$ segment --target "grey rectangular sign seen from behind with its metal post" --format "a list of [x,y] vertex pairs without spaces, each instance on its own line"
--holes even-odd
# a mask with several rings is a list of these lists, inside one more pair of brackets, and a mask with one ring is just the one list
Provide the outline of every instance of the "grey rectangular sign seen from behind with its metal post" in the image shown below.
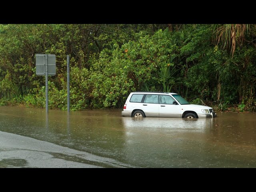
[[45,75],[45,109],[48,114],[48,75],[56,75],[56,56],[36,54],[36,74]]

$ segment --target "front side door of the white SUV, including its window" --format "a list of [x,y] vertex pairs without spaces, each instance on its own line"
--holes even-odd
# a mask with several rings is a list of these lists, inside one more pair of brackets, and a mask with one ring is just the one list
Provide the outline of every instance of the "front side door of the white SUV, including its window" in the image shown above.
[[159,117],[181,117],[181,106],[170,95],[159,95]]

